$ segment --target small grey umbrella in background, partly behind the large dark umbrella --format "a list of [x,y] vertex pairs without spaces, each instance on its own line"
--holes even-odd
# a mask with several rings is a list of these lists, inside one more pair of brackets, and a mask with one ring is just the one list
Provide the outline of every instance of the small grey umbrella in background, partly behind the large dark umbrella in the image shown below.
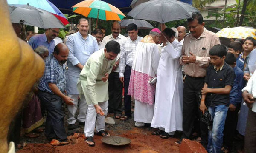
[[137,25],[138,29],[152,29],[154,28],[148,21],[145,20],[137,20],[137,19],[125,19],[122,21],[119,21],[121,24],[121,28],[127,28],[127,26],[131,23],[134,23]]

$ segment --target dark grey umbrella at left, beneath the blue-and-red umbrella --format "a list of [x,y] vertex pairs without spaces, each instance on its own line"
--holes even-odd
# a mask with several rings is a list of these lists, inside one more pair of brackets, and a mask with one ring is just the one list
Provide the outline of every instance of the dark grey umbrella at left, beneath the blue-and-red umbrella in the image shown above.
[[24,20],[25,25],[39,28],[65,28],[65,26],[50,12],[29,5],[8,5],[11,22],[20,23]]

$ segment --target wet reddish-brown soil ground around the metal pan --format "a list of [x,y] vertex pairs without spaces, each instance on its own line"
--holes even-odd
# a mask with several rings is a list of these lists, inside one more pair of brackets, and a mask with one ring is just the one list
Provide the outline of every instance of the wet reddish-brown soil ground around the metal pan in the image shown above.
[[[134,104],[133,104],[134,105]],[[65,127],[68,135],[73,133],[84,133],[84,127],[76,122],[76,129],[69,131],[67,129],[67,106],[64,105],[65,110]],[[113,114],[109,114],[114,118]],[[26,138],[22,132],[20,142],[27,142],[27,146],[23,149],[17,150],[17,153],[84,153],[84,152],[97,152],[97,153],[177,153],[179,152],[179,144],[175,144],[176,138],[162,139],[159,136],[153,136],[151,133],[154,128],[150,125],[147,127],[134,127],[133,119],[127,121],[120,121],[115,119],[116,124],[105,125],[105,130],[108,131],[111,136],[122,136],[131,139],[131,143],[125,146],[111,146],[102,143],[101,136],[94,136],[96,143],[95,147],[89,147],[84,139],[77,139],[76,143],[70,143],[64,146],[53,147],[49,144],[49,141],[41,133],[37,138]]]

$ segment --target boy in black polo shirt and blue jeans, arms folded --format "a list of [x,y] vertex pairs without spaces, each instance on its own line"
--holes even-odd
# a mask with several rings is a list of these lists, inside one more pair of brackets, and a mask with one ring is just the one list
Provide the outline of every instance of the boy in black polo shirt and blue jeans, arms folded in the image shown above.
[[210,51],[210,65],[207,68],[200,110],[204,114],[208,105],[209,113],[213,118],[212,126],[208,126],[209,153],[220,153],[223,141],[223,130],[227,110],[229,108],[229,93],[234,83],[235,72],[224,60],[226,59],[227,47],[215,45]]

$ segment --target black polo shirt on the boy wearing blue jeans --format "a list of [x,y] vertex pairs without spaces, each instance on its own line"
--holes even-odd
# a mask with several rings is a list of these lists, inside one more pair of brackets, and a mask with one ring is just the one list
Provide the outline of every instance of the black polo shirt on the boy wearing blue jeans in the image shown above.
[[[208,88],[225,88],[226,85],[233,87],[235,78],[236,74],[233,68],[225,62],[218,71],[215,70],[214,65],[208,66],[205,83],[207,83]],[[229,94],[208,93],[205,100],[208,106],[228,106]]]

